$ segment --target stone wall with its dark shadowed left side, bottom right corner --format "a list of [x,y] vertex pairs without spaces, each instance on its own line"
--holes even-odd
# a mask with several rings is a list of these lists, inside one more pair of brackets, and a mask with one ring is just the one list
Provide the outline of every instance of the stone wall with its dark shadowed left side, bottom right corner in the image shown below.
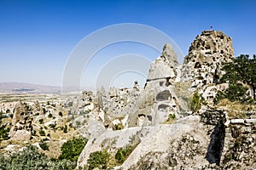
[[209,163],[223,169],[256,167],[256,118],[230,119],[224,110],[207,110],[201,113],[201,122],[215,125],[207,150]]

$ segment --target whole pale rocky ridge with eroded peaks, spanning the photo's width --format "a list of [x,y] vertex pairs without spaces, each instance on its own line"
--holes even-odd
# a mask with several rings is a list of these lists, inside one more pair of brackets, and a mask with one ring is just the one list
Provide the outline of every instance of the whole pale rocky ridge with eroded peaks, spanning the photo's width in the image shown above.
[[[90,154],[98,150],[108,151],[108,167],[113,169],[256,167],[255,107],[248,106],[241,118],[230,106],[212,103],[217,91],[228,87],[218,81],[224,74],[222,65],[233,58],[230,37],[221,31],[202,31],[183,65],[166,44],[150,66],[143,89],[135,82],[134,88],[101,88],[65,99],[43,96],[26,103],[1,96],[5,101],[0,105],[1,127],[11,127],[10,139],[1,143],[3,150],[32,143],[43,151],[39,143],[44,140],[49,145],[44,153],[56,158],[67,139],[82,135],[89,141],[78,167],[88,167]],[[195,94],[204,102],[193,112]],[[131,155],[117,162],[115,154],[127,146]]]

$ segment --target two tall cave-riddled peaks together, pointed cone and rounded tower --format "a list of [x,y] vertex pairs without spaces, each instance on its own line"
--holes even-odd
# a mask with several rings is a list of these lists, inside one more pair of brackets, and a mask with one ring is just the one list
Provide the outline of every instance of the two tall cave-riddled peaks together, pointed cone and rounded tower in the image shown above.
[[218,90],[227,88],[217,83],[224,74],[221,67],[232,59],[232,40],[221,31],[202,31],[195,37],[183,65],[178,64],[172,45],[166,44],[150,65],[143,92],[131,110],[129,126],[162,123],[170,114],[185,116],[195,91],[212,100]]

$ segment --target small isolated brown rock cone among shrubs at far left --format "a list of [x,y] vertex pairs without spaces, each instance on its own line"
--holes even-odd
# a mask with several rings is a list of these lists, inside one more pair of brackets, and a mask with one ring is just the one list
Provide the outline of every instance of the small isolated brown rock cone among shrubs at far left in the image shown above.
[[15,105],[15,113],[9,136],[15,140],[29,140],[32,136],[32,117],[29,115],[28,106],[18,102]]

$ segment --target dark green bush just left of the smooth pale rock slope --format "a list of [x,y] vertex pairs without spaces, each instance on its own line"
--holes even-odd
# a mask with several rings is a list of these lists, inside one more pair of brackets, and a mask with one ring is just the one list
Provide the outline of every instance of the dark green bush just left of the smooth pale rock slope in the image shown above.
[[71,161],[77,161],[79,155],[84,150],[84,146],[87,143],[88,139],[79,137],[72,140],[68,140],[65,144],[61,146],[61,156],[62,159],[67,159]]

